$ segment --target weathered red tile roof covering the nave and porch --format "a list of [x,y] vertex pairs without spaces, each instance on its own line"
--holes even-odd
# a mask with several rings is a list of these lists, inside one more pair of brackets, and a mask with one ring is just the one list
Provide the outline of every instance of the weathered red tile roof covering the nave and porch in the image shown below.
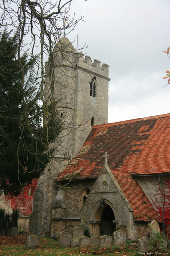
[[108,167],[131,204],[135,218],[159,220],[132,175],[170,173],[169,151],[170,114],[96,125],[56,181],[97,178],[107,152]]

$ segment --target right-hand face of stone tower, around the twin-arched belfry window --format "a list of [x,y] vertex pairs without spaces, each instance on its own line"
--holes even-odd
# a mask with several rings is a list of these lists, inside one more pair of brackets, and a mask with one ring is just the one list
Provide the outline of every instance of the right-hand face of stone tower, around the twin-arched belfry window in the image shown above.
[[[76,68],[75,119],[77,124],[83,124],[83,130],[75,132],[74,152],[81,146],[91,128],[91,118],[94,125],[107,123],[108,117],[108,65],[100,66],[100,61],[89,56],[76,53],[78,57]],[[90,82],[96,77],[96,97],[90,96]],[[80,127],[81,128],[81,127]],[[76,142],[76,143],[75,143]]]

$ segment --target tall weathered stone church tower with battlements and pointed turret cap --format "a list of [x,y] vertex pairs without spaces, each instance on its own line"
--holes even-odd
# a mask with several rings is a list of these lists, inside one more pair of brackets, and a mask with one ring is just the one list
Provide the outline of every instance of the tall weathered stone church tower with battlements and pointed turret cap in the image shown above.
[[[92,125],[107,123],[108,65],[76,52],[70,41],[61,38],[54,49],[54,62],[46,63],[45,97],[48,97],[49,68],[54,70],[54,94],[59,114],[65,122],[51,176],[62,172],[89,134]],[[40,177],[34,194],[29,231],[51,234],[51,212],[58,192],[48,170]]]

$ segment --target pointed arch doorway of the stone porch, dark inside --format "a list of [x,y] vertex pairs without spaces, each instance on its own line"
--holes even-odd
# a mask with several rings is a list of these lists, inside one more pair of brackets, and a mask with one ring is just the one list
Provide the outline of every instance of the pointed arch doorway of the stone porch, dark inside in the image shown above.
[[109,203],[107,204],[106,201],[104,207],[101,207],[100,203],[98,203],[91,215],[91,234],[97,236],[111,236],[116,229],[116,224],[113,223],[114,220],[115,214],[113,207],[111,207]]

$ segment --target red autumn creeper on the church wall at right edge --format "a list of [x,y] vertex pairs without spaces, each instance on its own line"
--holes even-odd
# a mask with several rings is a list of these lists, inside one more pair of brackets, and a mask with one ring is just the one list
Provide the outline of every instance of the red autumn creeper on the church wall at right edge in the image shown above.
[[[161,199],[161,187],[159,184],[159,193],[154,196],[155,202],[152,200],[154,206],[158,210],[158,214],[162,218],[162,200]],[[166,234],[170,239],[170,179],[166,178],[163,185],[163,215],[166,224]]]

